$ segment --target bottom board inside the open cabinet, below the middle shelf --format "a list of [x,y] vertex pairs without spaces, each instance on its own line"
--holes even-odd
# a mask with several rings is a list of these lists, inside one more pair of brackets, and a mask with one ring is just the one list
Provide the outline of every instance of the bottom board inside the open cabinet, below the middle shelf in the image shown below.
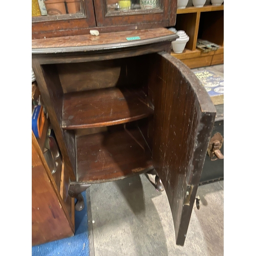
[[77,182],[113,181],[153,168],[151,152],[140,130],[133,128],[129,134],[115,127],[76,137]]

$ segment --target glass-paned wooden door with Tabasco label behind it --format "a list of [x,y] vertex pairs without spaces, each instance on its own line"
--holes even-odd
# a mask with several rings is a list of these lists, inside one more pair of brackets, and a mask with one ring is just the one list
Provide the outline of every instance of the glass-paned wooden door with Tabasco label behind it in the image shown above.
[[175,1],[94,0],[97,26],[160,23],[166,27],[172,2]]

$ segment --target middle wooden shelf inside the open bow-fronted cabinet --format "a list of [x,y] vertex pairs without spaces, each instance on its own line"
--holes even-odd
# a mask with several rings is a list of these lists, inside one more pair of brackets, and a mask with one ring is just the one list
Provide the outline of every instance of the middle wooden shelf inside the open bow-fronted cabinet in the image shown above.
[[139,120],[153,114],[141,90],[104,88],[67,93],[63,99],[64,130],[102,127]]

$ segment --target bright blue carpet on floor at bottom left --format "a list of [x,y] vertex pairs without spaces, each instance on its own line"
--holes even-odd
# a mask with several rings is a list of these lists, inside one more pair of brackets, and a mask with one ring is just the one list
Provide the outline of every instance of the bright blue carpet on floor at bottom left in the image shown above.
[[73,237],[32,246],[32,256],[89,256],[89,231],[86,191],[82,193],[84,208],[75,212]]

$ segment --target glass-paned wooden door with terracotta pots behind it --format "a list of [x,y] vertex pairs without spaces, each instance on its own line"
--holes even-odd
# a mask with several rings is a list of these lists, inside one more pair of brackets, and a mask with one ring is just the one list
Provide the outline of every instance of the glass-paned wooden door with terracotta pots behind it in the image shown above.
[[39,38],[37,33],[50,36],[58,31],[95,26],[93,0],[32,0],[34,38]]

